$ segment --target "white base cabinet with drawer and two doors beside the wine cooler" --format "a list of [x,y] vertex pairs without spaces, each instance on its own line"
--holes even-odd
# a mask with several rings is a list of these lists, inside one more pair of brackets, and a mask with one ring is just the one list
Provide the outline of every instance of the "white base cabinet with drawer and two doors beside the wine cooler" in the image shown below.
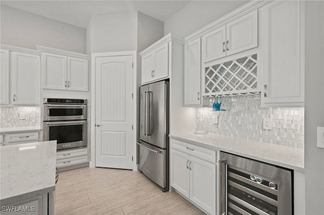
[[216,151],[171,139],[171,186],[209,214],[216,214],[215,162]]

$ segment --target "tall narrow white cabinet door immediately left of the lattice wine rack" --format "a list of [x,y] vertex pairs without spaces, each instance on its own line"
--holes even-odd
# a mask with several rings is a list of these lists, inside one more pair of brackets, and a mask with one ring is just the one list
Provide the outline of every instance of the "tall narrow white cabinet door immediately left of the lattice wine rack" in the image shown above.
[[184,48],[184,105],[201,104],[200,38]]

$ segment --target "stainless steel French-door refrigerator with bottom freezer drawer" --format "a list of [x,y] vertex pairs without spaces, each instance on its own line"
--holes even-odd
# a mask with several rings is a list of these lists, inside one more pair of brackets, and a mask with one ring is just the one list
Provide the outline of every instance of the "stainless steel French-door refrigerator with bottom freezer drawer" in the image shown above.
[[169,190],[169,82],[140,87],[139,168]]

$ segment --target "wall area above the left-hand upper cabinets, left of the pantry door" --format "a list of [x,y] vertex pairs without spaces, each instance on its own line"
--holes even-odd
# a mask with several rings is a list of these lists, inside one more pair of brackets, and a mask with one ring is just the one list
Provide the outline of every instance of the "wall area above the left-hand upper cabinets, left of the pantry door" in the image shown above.
[[86,29],[1,5],[1,43],[86,53]]

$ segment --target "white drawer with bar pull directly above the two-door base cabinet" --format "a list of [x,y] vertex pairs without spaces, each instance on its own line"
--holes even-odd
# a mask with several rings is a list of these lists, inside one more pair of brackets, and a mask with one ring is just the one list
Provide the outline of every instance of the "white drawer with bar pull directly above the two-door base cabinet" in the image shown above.
[[171,147],[192,156],[216,163],[216,151],[171,139]]

